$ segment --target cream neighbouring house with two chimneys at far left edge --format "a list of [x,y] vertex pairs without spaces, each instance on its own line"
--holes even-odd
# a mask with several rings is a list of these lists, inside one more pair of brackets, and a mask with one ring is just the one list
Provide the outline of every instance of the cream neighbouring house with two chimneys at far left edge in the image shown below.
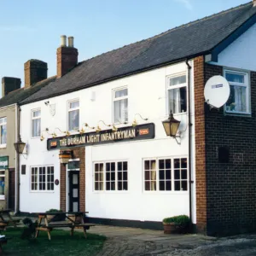
[[15,170],[20,155],[16,154],[14,146],[19,139],[19,102],[55,80],[55,77],[47,79],[48,68],[44,61],[26,61],[24,68],[25,86],[20,88],[20,79],[3,77],[0,99],[0,207],[14,211],[19,209],[15,200],[19,196],[19,177]]

